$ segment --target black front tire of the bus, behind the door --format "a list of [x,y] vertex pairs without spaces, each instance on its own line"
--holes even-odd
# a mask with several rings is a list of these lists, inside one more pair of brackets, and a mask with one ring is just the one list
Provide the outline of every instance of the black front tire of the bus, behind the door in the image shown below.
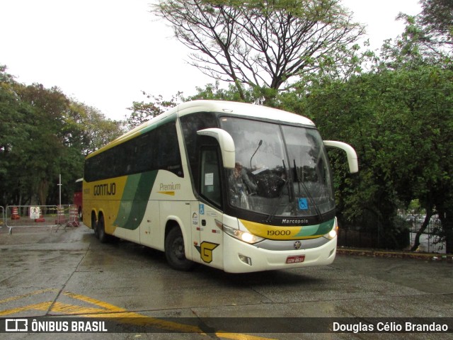
[[165,238],[165,257],[168,264],[178,271],[193,268],[193,261],[185,258],[184,238],[179,227],[172,227]]

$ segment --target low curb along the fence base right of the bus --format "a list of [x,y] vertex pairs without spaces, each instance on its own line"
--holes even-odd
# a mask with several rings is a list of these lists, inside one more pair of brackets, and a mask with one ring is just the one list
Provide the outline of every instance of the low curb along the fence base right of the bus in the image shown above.
[[350,248],[337,248],[337,254],[453,262],[452,254],[417,253],[407,251],[384,251],[374,249],[350,249]]

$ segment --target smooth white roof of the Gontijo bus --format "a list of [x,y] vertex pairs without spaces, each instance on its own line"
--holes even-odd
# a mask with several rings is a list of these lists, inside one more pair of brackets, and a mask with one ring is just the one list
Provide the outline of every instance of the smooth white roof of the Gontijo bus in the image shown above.
[[88,158],[101,150],[109,149],[114,145],[121,144],[126,140],[130,140],[134,135],[139,135],[142,130],[145,130],[152,125],[156,125],[162,120],[171,119],[171,116],[182,117],[183,115],[189,115],[190,113],[196,112],[217,112],[217,113],[226,113],[226,114],[237,114],[243,117],[250,117],[250,118],[260,118],[265,120],[275,120],[276,122],[282,123],[292,123],[292,124],[302,124],[302,125],[312,125],[314,123],[302,115],[297,115],[296,113],[289,113],[287,111],[282,111],[277,108],[269,108],[267,106],[260,106],[256,104],[249,104],[249,103],[239,103],[234,101],[188,101],[185,103],[181,103],[174,108],[166,111],[165,113],[161,113],[160,115],[156,115],[156,117],[151,118],[147,122],[143,123],[142,125],[137,126],[126,132],[124,135],[117,137],[117,139],[110,142],[105,147],[98,149],[97,151],[88,155]]

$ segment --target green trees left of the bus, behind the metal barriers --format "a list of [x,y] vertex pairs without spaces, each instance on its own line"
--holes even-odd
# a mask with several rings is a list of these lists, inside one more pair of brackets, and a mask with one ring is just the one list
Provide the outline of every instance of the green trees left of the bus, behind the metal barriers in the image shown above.
[[122,132],[57,87],[25,86],[0,67],[0,205],[71,202],[84,156]]

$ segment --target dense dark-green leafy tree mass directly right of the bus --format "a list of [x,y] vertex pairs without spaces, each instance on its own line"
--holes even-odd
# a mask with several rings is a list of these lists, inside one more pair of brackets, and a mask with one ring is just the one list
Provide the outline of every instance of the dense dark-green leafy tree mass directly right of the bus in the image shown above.
[[402,68],[320,82],[305,99],[323,137],[350,143],[360,159],[359,174],[348,176],[343,156],[331,154],[341,222],[353,225],[371,212],[386,240],[379,246],[396,246],[398,203],[418,198],[426,223],[440,215],[453,252],[452,84],[443,67]]

